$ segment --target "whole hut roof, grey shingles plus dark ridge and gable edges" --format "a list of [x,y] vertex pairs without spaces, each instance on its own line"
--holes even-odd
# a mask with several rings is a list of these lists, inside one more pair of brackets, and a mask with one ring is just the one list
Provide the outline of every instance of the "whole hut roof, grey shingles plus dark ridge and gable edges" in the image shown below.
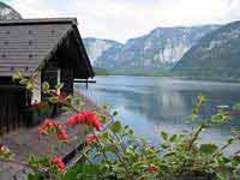
[[[15,71],[31,75],[53,57],[61,44],[74,35],[80,56],[75,78],[93,77],[94,73],[77,29],[76,18],[21,19],[0,21],[0,76],[11,76]],[[77,59],[79,58],[79,59]],[[79,63],[81,62],[81,63]],[[84,67],[84,68],[83,68]],[[75,72],[78,67],[74,67]]]

